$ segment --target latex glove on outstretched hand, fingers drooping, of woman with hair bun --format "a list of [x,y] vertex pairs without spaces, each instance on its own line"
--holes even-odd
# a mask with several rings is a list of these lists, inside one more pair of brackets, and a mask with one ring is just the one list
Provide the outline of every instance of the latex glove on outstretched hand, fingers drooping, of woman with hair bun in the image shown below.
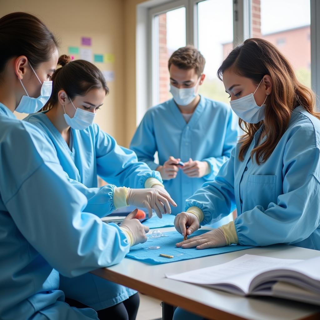
[[127,191],[127,203],[135,207],[143,207],[148,209],[149,218],[152,217],[152,209],[161,219],[165,213],[171,213],[169,202],[176,207],[177,204],[171,197],[156,188],[149,189],[130,189]]

